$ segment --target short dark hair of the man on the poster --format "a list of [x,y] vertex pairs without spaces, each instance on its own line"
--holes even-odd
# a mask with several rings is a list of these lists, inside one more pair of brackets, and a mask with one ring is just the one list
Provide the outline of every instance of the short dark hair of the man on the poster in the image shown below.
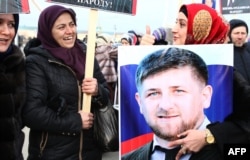
[[196,53],[186,50],[171,47],[162,49],[147,55],[137,67],[136,70],[136,86],[137,89],[142,82],[149,76],[156,73],[171,69],[191,66],[194,75],[204,82],[208,83],[207,65],[203,59]]

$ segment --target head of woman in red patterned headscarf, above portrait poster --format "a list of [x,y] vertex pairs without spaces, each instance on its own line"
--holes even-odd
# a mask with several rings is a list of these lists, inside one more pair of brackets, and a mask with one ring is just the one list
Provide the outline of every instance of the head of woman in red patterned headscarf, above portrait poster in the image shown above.
[[228,30],[229,24],[211,7],[204,4],[183,5],[172,28],[173,44],[226,43]]

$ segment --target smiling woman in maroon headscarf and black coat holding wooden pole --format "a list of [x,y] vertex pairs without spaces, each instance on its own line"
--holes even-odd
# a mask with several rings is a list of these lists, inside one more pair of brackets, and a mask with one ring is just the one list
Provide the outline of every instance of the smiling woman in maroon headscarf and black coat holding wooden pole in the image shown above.
[[28,160],[101,160],[94,116],[82,111],[82,93],[92,96],[94,109],[107,105],[109,92],[96,60],[94,78],[84,78],[86,46],[77,39],[75,16],[59,5],[44,9],[37,39],[25,46]]

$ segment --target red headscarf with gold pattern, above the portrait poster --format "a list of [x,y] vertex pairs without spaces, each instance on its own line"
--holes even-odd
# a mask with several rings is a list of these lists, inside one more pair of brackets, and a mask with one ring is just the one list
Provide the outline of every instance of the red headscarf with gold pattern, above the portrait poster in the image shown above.
[[188,19],[185,44],[222,44],[225,42],[229,24],[213,8],[193,3],[182,5],[180,12],[186,10]]

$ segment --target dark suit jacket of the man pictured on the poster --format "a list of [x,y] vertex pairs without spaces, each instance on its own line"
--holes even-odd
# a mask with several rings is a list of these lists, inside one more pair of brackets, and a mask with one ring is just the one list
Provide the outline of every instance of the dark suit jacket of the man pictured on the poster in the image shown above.
[[[150,160],[152,154],[152,144],[150,142],[143,147],[132,151],[122,157],[122,160]],[[218,147],[213,145],[207,145],[202,148],[198,153],[193,153],[190,160],[221,160],[222,154]]]

